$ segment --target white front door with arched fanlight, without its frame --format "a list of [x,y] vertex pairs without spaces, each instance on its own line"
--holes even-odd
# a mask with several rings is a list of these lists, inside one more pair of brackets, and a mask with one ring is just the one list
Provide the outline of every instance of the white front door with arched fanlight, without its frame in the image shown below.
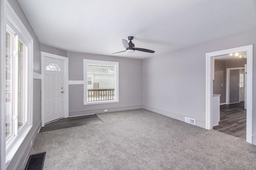
[[44,57],[44,123],[64,117],[63,60]]

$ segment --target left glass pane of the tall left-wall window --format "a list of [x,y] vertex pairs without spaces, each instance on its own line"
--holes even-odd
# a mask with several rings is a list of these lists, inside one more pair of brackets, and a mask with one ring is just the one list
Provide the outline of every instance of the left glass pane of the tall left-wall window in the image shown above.
[[12,113],[13,113],[13,74],[14,74],[14,61],[12,51],[14,47],[14,37],[6,31],[6,141],[14,134]]

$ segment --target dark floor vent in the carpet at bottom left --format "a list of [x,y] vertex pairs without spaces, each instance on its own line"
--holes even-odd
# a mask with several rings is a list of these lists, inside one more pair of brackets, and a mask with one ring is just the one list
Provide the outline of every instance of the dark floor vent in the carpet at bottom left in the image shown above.
[[42,170],[46,152],[32,154],[28,158],[25,170]]

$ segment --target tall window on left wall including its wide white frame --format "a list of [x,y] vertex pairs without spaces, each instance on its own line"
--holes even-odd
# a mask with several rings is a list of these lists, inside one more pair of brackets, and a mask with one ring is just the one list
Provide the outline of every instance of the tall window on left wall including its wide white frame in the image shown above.
[[6,2],[4,72],[4,126],[6,167],[32,127],[33,38]]

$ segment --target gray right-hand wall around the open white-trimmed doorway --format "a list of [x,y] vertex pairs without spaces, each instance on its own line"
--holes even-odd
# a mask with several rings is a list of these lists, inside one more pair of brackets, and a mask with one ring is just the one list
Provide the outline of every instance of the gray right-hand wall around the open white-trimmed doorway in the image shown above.
[[[144,108],[205,127],[206,53],[254,45],[256,30],[208,41],[143,60]],[[256,60],[253,61],[254,70]],[[256,144],[256,74],[253,74],[253,143]]]

